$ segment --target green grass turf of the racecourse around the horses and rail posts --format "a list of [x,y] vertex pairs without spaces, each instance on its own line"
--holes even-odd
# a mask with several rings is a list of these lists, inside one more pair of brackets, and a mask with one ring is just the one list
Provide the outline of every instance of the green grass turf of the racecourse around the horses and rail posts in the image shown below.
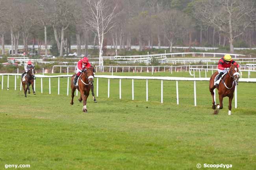
[[[172,76],[190,77],[186,72]],[[110,81],[108,99],[107,79],[99,79],[98,103],[90,96],[88,113],[83,113],[78,97],[73,106],[69,104],[67,78],[61,79],[61,95],[57,95],[57,80],[51,79],[49,95],[48,79],[43,79],[43,94],[37,79],[37,95],[25,98],[19,86],[14,90],[14,77],[6,90],[5,77],[5,88],[0,90],[0,169],[7,164],[29,164],[30,168],[23,169],[195,170],[198,163],[256,169],[256,84],[239,83],[238,108],[234,109],[233,101],[228,116],[226,98],[224,109],[213,115],[208,82],[197,82],[195,107],[193,82],[179,82],[177,105],[176,82],[163,82],[161,104],[158,80],[148,81],[146,102],[145,80],[134,80],[132,101],[131,80],[122,80],[120,100],[119,80]]]

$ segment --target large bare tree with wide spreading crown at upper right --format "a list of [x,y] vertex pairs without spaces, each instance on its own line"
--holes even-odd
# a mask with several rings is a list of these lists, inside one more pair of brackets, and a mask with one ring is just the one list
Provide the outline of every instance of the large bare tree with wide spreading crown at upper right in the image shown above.
[[256,20],[254,0],[203,0],[195,2],[195,17],[222,31],[228,37],[230,52],[234,39]]

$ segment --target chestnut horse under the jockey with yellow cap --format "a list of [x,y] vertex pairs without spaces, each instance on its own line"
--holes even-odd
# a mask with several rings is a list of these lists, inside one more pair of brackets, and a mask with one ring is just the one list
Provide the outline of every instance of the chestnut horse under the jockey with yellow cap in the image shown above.
[[239,70],[236,66],[231,66],[230,70],[221,78],[219,85],[214,86],[214,78],[218,74],[218,71],[211,75],[209,90],[211,92],[212,97],[212,109],[216,109],[215,101],[214,101],[214,92],[213,90],[217,88],[219,90],[219,102],[220,104],[217,105],[218,109],[223,108],[223,97],[228,97],[228,115],[231,115],[231,108],[232,108],[232,99],[234,97],[234,90],[239,80]]

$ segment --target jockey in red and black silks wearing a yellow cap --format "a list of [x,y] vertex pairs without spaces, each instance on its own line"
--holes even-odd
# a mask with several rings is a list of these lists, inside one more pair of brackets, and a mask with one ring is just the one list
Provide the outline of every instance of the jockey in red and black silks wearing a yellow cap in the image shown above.
[[231,64],[233,64],[236,67],[239,67],[238,63],[235,62],[234,60],[232,60],[231,56],[229,54],[226,54],[223,58],[221,58],[218,62],[218,72],[219,75],[216,79],[216,81],[214,82],[214,85],[218,85],[219,82],[221,81],[221,76],[228,72]]

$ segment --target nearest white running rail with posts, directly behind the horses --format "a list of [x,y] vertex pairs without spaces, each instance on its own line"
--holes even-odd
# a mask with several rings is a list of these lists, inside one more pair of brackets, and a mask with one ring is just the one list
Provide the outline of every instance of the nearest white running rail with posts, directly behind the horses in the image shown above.
[[[17,90],[17,76],[20,74],[0,74],[2,75],[2,90],[4,89],[4,76],[7,76],[7,90],[9,90],[9,76],[15,77],[15,90]],[[59,95],[59,79],[67,78],[67,95],[69,95],[69,77],[72,75],[54,75],[54,76],[46,76],[46,75],[35,75],[37,78],[41,78],[41,93],[43,93],[43,78],[49,79],[49,94],[51,94],[51,78],[58,78],[58,95]],[[179,93],[178,93],[178,81],[194,81],[194,104],[197,106],[197,95],[196,95],[196,81],[209,81],[210,78],[191,78],[191,77],[143,77],[143,76],[111,76],[111,75],[96,75],[96,96],[98,97],[98,79],[108,79],[108,98],[110,97],[110,79],[119,79],[119,99],[122,98],[122,79],[132,80],[132,100],[134,100],[134,80],[146,80],[146,101],[148,101],[148,80],[161,80],[161,103],[163,103],[163,80],[176,81],[176,102],[179,104]],[[239,79],[239,82],[256,82],[256,79]],[[35,88],[35,83],[34,83]],[[127,90],[127,89],[126,89]],[[20,81],[20,91],[21,91],[21,81]],[[76,95],[78,95],[78,91],[76,91]],[[216,98],[216,97],[215,97]],[[216,101],[216,100],[215,100]],[[235,89],[235,108],[237,108],[237,86]]]

